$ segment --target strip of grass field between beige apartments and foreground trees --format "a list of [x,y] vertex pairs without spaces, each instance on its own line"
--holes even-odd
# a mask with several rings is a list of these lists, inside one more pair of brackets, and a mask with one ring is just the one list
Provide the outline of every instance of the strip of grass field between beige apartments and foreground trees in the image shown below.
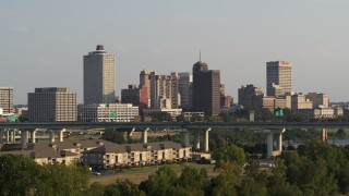
[[185,166],[190,166],[196,169],[205,168],[207,171],[208,177],[214,177],[218,173],[214,171],[214,164],[196,164],[192,162],[181,163],[181,164],[166,164],[166,166],[152,166],[152,167],[140,167],[140,168],[131,168],[131,169],[123,169],[120,172],[113,172],[113,171],[106,171],[101,173],[101,175],[92,175],[91,183],[98,182],[100,184],[107,185],[110,183],[113,183],[117,181],[117,179],[129,179],[130,181],[139,184],[142,181],[145,181],[148,179],[148,175],[152,173],[155,173],[158,168],[161,167],[170,167],[173,169],[173,171],[180,175],[182,172],[182,169]]

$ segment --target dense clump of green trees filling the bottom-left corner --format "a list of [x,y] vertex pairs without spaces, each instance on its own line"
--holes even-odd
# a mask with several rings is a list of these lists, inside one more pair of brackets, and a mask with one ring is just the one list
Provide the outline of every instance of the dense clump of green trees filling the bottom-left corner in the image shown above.
[[84,167],[39,166],[22,155],[0,156],[0,195],[83,195],[88,180]]

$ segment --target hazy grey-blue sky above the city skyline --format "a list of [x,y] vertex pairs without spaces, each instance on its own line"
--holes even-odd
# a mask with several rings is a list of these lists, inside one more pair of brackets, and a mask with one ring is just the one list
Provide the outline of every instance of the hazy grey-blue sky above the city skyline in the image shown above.
[[226,94],[266,84],[266,62],[292,62],[296,93],[349,101],[349,0],[0,1],[0,86],[14,103],[36,87],[70,87],[83,100],[83,56],[116,54],[116,88],[144,70],[220,70]]

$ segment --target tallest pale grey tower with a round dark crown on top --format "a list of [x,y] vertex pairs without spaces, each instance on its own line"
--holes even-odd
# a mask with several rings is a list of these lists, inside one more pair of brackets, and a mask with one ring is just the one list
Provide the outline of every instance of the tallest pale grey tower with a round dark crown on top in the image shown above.
[[98,45],[84,56],[84,103],[116,101],[116,58]]

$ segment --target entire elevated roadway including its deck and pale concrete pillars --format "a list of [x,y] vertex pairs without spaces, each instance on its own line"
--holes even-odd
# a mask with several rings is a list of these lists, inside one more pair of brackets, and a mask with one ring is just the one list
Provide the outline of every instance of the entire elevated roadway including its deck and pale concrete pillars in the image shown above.
[[[201,149],[201,135],[204,137],[203,150],[208,151],[208,132],[210,130],[263,130],[267,134],[267,157],[274,156],[274,135],[277,136],[277,150],[282,150],[282,133],[285,130],[291,131],[294,128],[318,128],[322,130],[322,138],[326,140],[327,128],[349,128],[349,122],[246,122],[246,123],[209,123],[209,122],[25,122],[25,123],[0,123],[0,144],[3,137],[7,142],[15,142],[15,133],[12,135],[9,130],[21,130],[22,149],[26,148],[28,142],[28,133],[31,134],[32,143],[36,139],[36,130],[47,128],[50,132],[50,142],[55,142],[55,133],[59,134],[59,142],[63,140],[63,132],[65,130],[88,130],[88,128],[116,128],[122,132],[128,132],[128,140],[134,131],[142,131],[142,142],[147,143],[147,132],[155,128],[171,128],[180,130],[182,134],[183,145],[190,145],[189,134],[195,135],[194,147]],[[3,136],[5,134],[5,136]]]

